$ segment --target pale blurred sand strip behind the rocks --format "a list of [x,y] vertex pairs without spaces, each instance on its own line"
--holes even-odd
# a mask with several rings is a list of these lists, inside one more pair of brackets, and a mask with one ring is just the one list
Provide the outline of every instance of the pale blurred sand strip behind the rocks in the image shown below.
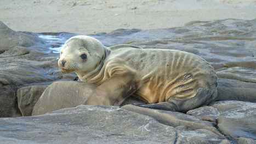
[[255,0],[1,0],[0,21],[15,31],[91,34],[169,28],[186,22],[256,18]]

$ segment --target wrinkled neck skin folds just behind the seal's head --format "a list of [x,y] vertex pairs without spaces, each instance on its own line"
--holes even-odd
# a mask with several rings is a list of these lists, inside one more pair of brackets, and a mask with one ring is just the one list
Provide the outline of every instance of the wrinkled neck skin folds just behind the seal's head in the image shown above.
[[99,74],[101,68],[104,65],[104,61],[106,59],[106,57],[110,54],[110,50],[107,49],[106,47],[104,47],[104,55],[101,58],[101,61],[99,62],[98,65],[96,65],[96,67],[94,68],[94,70],[89,71],[89,72],[76,72],[77,76],[79,79],[81,79],[84,82],[87,82],[88,79],[93,78],[94,76],[96,76],[97,74]]

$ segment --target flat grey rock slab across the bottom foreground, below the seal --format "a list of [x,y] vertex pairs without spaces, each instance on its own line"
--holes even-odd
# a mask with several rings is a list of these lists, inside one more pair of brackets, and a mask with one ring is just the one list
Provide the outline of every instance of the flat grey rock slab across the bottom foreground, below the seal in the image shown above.
[[2,143],[255,143],[251,102],[219,101],[185,113],[85,106],[0,118]]

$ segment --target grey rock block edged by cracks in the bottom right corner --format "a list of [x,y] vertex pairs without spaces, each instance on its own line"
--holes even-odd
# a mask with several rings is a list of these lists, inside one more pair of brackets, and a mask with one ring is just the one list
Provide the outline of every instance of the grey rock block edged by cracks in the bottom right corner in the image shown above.
[[252,102],[219,101],[211,104],[219,112],[218,128],[234,139],[256,139],[256,105]]

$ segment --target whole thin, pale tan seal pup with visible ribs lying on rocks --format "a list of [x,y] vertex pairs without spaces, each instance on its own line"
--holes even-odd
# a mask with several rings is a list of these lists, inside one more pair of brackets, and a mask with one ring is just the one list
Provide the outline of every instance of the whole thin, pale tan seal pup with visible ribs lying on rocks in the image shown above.
[[120,106],[130,95],[158,110],[186,112],[217,96],[217,75],[201,57],[180,50],[105,47],[89,36],[68,39],[60,51],[63,73],[98,84],[84,105]]

